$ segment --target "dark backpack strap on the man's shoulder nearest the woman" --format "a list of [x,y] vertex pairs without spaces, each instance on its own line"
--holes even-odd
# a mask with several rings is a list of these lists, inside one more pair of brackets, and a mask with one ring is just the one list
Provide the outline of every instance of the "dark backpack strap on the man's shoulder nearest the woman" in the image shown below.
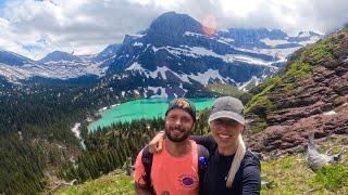
[[201,194],[203,192],[203,180],[208,169],[209,152],[204,146],[197,144],[197,153],[198,153],[199,194]]

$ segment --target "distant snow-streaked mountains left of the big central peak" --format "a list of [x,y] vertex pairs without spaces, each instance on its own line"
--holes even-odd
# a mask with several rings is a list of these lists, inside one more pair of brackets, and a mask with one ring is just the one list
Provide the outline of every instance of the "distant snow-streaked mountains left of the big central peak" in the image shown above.
[[53,51],[39,61],[0,50],[0,75],[15,83],[92,83],[104,75],[120,47],[110,44],[97,55]]

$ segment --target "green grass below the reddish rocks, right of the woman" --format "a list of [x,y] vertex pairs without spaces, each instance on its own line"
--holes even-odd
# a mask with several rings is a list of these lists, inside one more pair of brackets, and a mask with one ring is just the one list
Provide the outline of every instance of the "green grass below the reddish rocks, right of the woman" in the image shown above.
[[347,194],[348,167],[336,165],[310,170],[306,156],[262,161],[261,194]]

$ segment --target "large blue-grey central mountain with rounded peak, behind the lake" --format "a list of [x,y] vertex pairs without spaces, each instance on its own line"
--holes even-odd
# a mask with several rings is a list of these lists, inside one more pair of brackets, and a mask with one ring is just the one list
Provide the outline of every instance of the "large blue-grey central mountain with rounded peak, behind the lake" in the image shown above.
[[[160,15],[141,34],[125,36],[102,82],[123,83],[117,84],[120,90],[136,90],[142,96],[187,95],[192,89],[204,91],[210,83],[243,88],[276,73],[302,47],[300,41],[290,42],[282,30],[231,29],[206,35],[204,28],[186,14]],[[311,41],[320,38],[311,36]]]

